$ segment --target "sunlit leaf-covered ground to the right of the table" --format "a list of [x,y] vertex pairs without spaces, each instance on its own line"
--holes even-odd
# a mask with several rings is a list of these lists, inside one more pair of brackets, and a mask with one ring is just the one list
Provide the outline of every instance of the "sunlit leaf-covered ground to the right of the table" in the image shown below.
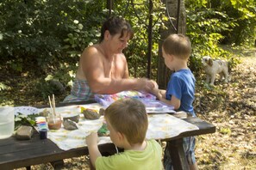
[[[255,52],[255,51],[254,51]],[[216,132],[197,137],[200,169],[256,169],[256,52],[240,56],[228,85],[215,95],[198,94],[198,117],[215,124]],[[204,93],[203,93],[204,94]]]

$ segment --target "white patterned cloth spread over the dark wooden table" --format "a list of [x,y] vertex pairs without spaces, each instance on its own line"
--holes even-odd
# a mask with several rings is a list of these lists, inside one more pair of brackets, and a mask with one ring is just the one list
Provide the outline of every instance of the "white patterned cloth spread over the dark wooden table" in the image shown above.
[[[88,136],[92,131],[97,132],[103,124],[103,116],[97,120],[88,120],[84,118],[81,113],[81,108],[91,108],[99,110],[102,106],[94,103],[87,105],[78,106],[61,106],[56,107],[56,112],[60,115],[80,113],[80,119],[78,122],[78,130],[67,131],[64,129],[63,124],[59,130],[51,130],[47,132],[48,138],[56,143],[59,149],[68,150],[76,149],[79,147],[86,146],[85,137]],[[34,107],[29,109],[28,107],[19,108],[18,110],[24,114],[42,112],[46,108],[35,110]],[[50,108],[47,108],[50,109]],[[198,130],[196,125],[185,122],[180,118],[175,118],[172,115],[161,112],[160,114],[148,114],[148,130],[147,139],[165,139],[176,137],[178,134],[184,131]],[[98,144],[111,143],[109,137],[99,137]]]

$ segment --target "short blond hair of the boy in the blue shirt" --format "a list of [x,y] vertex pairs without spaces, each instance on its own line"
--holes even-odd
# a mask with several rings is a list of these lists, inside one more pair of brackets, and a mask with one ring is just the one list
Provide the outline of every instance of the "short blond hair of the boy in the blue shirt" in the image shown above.
[[170,34],[164,40],[162,47],[166,54],[173,55],[180,59],[190,58],[190,39],[183,34]]

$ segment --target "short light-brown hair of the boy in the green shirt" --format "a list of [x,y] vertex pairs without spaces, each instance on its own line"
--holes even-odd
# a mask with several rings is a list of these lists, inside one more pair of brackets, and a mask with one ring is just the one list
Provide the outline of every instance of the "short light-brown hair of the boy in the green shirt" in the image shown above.
[[116,100],[105,110],[104,117],[115,131],[125,135],[131,145],[145,140],[148,119],[146,107],[140,100]]

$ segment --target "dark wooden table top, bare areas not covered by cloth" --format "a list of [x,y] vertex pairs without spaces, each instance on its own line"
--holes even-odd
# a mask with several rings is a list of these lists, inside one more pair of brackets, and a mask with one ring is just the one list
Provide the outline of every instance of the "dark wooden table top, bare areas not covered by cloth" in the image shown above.
[[[199,130],[184,132],[179,134],[177,137],[165,139],[164,141],[215,132],[215,125],[209,124],[200,118],[190,117],[184,118],[184,120],[197,125]],[[99,149],[101,151],[116,150],[112,143],[99,145]],[[88,149],[85,146],[66,151],[59,149],[59,147],[51,140],[41,140],[38,132],[35,130],[34,135],[30,140],[16,140],[15,137],[0,139],[0,169],[29,167],[31,165],[59,161],[88,154]]]

